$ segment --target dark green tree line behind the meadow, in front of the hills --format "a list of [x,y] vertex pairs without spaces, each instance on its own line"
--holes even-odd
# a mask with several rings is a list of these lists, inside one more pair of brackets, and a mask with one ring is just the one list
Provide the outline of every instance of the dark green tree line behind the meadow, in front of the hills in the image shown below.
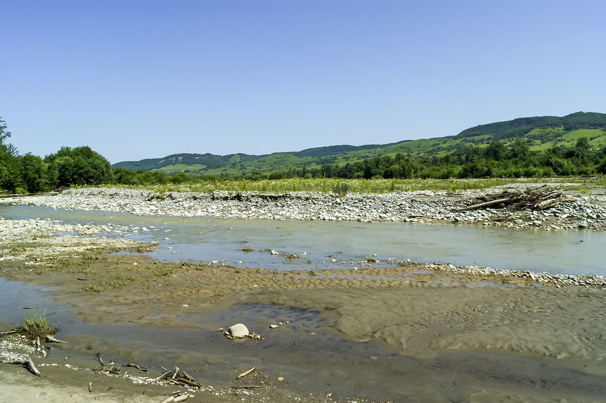
[[104,157],[88,146],[62,147],[44,159],[32,154],[19,155],[15,146],[6,142],[10,136],[4,120],[0,120],[0,188],[3,192],[36,193],[71,185],[151,185],[293,177],[448,179],[606,174],[606,147],[591,148],[587,137],[579,137],[573,146],[554,146],[542,151],[531,151],[524,139],[516,139],[509,145],[494,140],[488,145],[458,148],[441,157],[413,159],[404,154],[396,154],[345,164],[324,163],[316,167],[303,166],[274,172],[212,177],[188,176],[184,172],[168,175],[161,171],[112,168]]

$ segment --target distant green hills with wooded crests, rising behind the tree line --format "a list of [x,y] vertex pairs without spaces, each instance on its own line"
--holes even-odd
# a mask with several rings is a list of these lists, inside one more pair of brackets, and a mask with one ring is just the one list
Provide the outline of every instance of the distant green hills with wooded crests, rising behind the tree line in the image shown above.
[[506,145],[514,139],[525,139],[531,149],[570,146],[579,137],[590,139],[591,146],[606,146],[606,114],[577,112],[567,116],[520,117],[465,129],[456,136],[433,139],[402,140],[389,144],[361,146],[333,145],[302,151],[250,154],[172,154],[164,158],[124,161],[114,168],[138,171],[184,171],[190,174],[242,175],[271,172],[288,168],[314,167],[327,163],[348,163],[398,153],[413,158],[445,156],[471,145],[487,145],[499,140]]

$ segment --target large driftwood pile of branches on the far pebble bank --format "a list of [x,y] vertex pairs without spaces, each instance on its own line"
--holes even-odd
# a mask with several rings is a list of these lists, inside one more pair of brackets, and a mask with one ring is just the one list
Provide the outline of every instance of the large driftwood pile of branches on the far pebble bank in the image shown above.
[[579,186],[563,189],[559,186],[551,188],[543,185],[534,189],[505,189],[500,193],[477,197],[473,200],[472,205],[458,208],[455,211],[469,211],[486,207],[512,210],[544,210],[559,205],[564,200],[564,192]]

